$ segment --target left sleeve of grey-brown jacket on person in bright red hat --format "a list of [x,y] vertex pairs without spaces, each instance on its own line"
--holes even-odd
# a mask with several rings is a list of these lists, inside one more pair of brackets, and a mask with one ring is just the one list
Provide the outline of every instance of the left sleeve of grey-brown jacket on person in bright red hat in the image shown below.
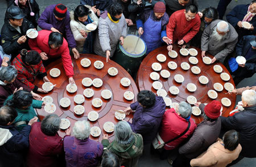
[[203,145],[203,134],[199,134],[196,131],[187,143],[179,148],[180,154],[191,153],[198,150]]

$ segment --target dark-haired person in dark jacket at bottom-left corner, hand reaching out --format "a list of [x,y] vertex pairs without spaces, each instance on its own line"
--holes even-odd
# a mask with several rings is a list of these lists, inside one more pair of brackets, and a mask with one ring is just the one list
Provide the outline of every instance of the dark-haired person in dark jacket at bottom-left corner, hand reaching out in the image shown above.
[[0,108],[0,166],[22,166],[24,154],[29,146],[31,124],[36,122],[37,118],[30,120],[28,125],[18,132],[11,124],[16,116],[14,108],[9,106]]

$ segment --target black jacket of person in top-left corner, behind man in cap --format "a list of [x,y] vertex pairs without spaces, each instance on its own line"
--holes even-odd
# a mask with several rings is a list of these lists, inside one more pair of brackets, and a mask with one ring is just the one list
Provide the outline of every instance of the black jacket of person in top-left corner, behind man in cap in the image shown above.
[[[36,28],[38,26],[38,19],[39,19],[39,6],[38,6],[38,3],[36,3],[35,0],[29,0],[30,1],[30,5],[31,5],[31,9],[32,9],[32,12],[35,13],[34,16],[31,16],[30,15],[30,6],[28,5],[28,1],[26,3],[26,5],[24,7],[22,7],[21,5],[19,5],[19,8],[22,9],[22,11],[24,12],[24,14],[26,14],[26,18],[34,25],[34,27]],[[17,6],[15,2],[13,2],[11,4],[11,6]]]

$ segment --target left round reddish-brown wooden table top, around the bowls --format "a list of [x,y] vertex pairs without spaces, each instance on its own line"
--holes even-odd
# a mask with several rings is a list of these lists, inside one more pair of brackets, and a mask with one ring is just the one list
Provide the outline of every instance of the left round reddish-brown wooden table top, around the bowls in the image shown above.
[[[91,65],[88,68],[84,68],[81,66],[80,61],[83,58],[88,58],[91,61]],[[94,68],[94,61],[100,60],[104,62],[104,68],[102,69],[96,69]],[[114,61],[109,61],[106,63],[106,58],[97,56],[97,55],[88,55],[88,54],[82,54],[80,55],[80,58],[75,60],[72,59],[73,63],[73,69],[75,72],[75,76],[73,76],[76,85],[77,85],[77,91],[75,93],[68,93],[66,90],[66,86],[68,85],[68,77],[65,75],[65,71],[63,68],[63,64],[61,62],[61,59],[58,59],[48,66],[46,66],[47,70],[47,77],[49,78],[50,82],[56,84],[56,86],[53,88],[52,91],[50,91],[47,94],[40,94],[42,96],[50,95],[53,98],[53,103],[56,105],[56,111],[53,112],[53,114],[57,114],[60,118],[67,118],[71,121],[71,130],[72,127],[74,126],[74,123],[77,120],[88,120],[87,114],[90,111],[96,111],[99,114],[98,120],[95,122],[90,122],[90,126],[98,126],[101,128],[101,135],[99,137],[93,137],[90,135],[90,139],[101,141],[102,136],[104,134],[107,134],[107,132],[104,131],[103,129],[103,124],[105,122],[113,122],[114,124],[117,124],[118,120],[115,118],[114,113],[116,110],[124,110],[126,107],[130,106],[130,103],[133,103],[136,101],[136,96],[138,94],[138,89],[137,86],[131,78],[130,74],[126,72],[125,69],[122,68],[122,66],[118,65]],[[108,74],[108,69],[110,67],[115,67],[118,69],[118,74],[117,76],[110,76]],[[61,74],[59,77],[53,78],[49,75],[49,70],[52,68],[58,68],[61,71]],[[96,88],[94,86],[89,86],[85,87],[82,85],[82,79],[85,77],[89,77],[92,80],[94,78],[100,78],[103,81],[103,85],[99,88]],[[124,87],[121,85],[120,80],[123,77],[127,77],[131,80],[131,85],[128,87]],[[43,80],[42,79],[37,79],[35,81],[35,85],[42,87]],[[91,88],[94,90],[94,95],[92,98],[86,98],[85,97],[85,102],[82,103],[81,105],[85,107],[85,112],[82,115],[76,115],[73,112],[73,108],[76,106],[76,103],[74,102],[73,98],[75,97],[76,94],[82,94],[83,91],[86,88]],[[113,95],[110,99],[106,100],[101,97],[101,90],[108,89],[112,91]],[[123,98],[123,93],[125,91],[133,91],[135,98],[131,101],[127,101],[125,98]],[[63,108],[60,106],[59,101],[63,97],[68,97],[71,99],[71,105],[67,108]],[[92,100],[93,98],[101,98],[103,101],[103,105],[99,108],[93,107],[92,106]],[[37,109],[40,120],[42,120],[48,113],[44,111],[44,108],[42,109]],[[125,120],[131,122],[131,119],[133,118],[133,115],[127,115]],[[72,131],[71,131],[72,132]],[[64,136],[65,132],[64,131],[59,131],[60,136]],[[113,141],[114,140],[114,132],[108,133],[109,135],[109,140]]]

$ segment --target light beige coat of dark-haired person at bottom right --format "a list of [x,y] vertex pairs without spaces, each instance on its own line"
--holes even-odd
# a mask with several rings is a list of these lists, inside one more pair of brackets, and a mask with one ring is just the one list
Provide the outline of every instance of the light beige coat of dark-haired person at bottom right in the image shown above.
[[239,144],[234,151],[229,151],[225,149],[220,143],[222,141],[217,141],[210,145],[210,147],[195,159],[190,161],[191,166],[211,166],[211,167],[224,167],[230,164],[233,160],[236,160],[242,150]]

